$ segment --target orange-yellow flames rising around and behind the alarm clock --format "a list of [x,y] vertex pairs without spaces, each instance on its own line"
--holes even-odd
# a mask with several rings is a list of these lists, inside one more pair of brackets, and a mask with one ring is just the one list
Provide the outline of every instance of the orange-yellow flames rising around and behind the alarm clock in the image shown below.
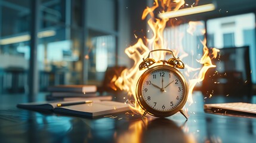
[[[197,3],[198,1],[196,1],[196,4]],[[147,54],[149,54],[149,51],[153,49],[170,49],[168,46],[168,42],[166,42],[164,39],[163,33],[165,30],[166,23],[168,21],[172,24],[172,27],[175,26],[173,23],[176,22],[174,21],[177,21],[177,18],[156,18],[154,15],[154,11],[159,10],[161,11],[161,13],[164,13],[165,11],[177,11],[180,8],[183,8],[184,4],[184,0],[155,0],[153,7],[146,7],[146,9],[143,11],[141,19],[145,20],[147,17],[149,17],[149,19],[147,20],[147,24],[149,25],[151,30],[150,32],[148,31],[147,36],[151,36],[151,38],[146,38],[144,42],[143,39],[139,38],[137,43],[125,49],[125,53],[128,55],[129,58],[131,58],[134,61],[134,65],[131,67],[131,69],[125,69],[124,71],[122,71],[121,76],[119,76],[118,79],[115,80],[115,85],[118,86],[118,88],[127,91],[128,94],[134,96],[135,99],[135,86],[137,84],[138,78],[144,72],[138,70],[138,65],[143,61],[143,58],[146,57]],[[193,4],[193,6],[196,4]],[[201,24],[202,23],[190,21],[187,32],[190,33],[190,35],[193,35],[193,33],[196,31],[196,26]],[[205,30],[202,30],[201,33],[204,34]],[[137,36],[135,37],[138,38]],[[174,52],[175,57],[177,57],[177,55],[180,55],[180,59],[182,60],[189,54],[187,54],[183,50],[183,46],[181,44],[183,34],[178,33],[178,38],[180,38],[178,46],[175,47],[175,49],[171,50]],[[197,62],[202,64],[202,67],[194,68],[190,65],[185,65],[185,71],[183,72],[186,75],[187,80],[189,81],[188,101],[190,101],[190,104],[193,103],[193,88],[195,88],[196,83],[201,82],[204,79],[205,73],[209,68],[215,67],[214,65],[212,65],[210,57],[216,58],[218,52],[218,49],[214,48],[212,49],[212,53],[209,53],[209,50],[206,46],[206,38],[204,38],[203,41],[201,41],[201,43],[203,45],[203,55],[201,59]],[[156,61],[165,59],[165,56],[166,54],[164,51],[152,53],[152,57]],[[191,76],[190,74],[195,73],[195,71],[197,71],[197,73]],[[137,101],[135,101],[134,107],[131,107],[131,109],[135,113],[143,113],[143,110],[140,108]]]

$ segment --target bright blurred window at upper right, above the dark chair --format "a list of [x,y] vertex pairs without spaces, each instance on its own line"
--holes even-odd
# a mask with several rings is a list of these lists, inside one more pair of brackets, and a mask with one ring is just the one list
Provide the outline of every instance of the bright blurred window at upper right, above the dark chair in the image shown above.
[[230,48],[249,46],[252,83],[256,83],[255,14],[214,18],[206,22],[208,46]]

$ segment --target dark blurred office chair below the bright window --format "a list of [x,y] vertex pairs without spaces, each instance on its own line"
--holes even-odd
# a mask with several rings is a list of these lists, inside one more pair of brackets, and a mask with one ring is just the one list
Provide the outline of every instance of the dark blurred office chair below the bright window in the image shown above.
[[220,56],[212,59],[202,82],[202,93],[209,95],[248,96],[252,94],[249,46],[220,49]]

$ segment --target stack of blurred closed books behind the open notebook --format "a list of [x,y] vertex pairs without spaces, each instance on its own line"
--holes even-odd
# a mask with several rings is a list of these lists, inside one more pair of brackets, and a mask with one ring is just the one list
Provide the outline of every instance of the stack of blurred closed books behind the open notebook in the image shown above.
[[100,96],[97,94],[95,85],[57,85],[48,87],[50,95],[47,100],[112,100],[111,96]]

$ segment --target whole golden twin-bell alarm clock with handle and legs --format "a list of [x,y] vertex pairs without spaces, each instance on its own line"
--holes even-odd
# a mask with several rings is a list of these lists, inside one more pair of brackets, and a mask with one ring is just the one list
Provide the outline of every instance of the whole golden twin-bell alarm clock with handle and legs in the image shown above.
[[[169,60],[160,60],[156,66],[151,52],[171,52]],[[140,107],[144,110],[141,117],[146,114],[156,117],[168,117],[180,111],[186,119],[187,114],[182,110],[187,101],[188,86],[183,74],[177,69],[184,69],[184,63],[175,58],[169,49],[155,49],[149,52],[146,59],[139,65],[139,70],[144,70],[138,79],[136,86],[136,98]]]

